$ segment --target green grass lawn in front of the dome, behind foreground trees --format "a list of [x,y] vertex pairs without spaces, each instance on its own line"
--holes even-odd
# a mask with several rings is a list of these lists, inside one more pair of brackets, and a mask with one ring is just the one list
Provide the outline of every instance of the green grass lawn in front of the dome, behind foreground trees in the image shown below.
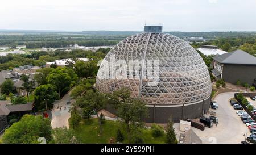
[[[102,125],[102,135],[98,136],[98,133],[100,131],[98,127],[98,120],[97,119],[84,119],[82,122],[80,122],[79,127],[75,130],[77,133],[77,137],[81,140],[82,143],[109,143],[109,139],[111,137],[116,137],[117,130],[121,129],[121,132],[123,133],[125,140],[123,143],[127,143],[127,133],[125,130],[121,127],[121,123],[114,122],[111,120],[106,120],[105,123]],[[154,138],[152,136],[151,129],[143,129],[142,130],[142,138],[144,139],[145,143],[149,144],[163,144],[165,140],[165,136],[156,137]]]

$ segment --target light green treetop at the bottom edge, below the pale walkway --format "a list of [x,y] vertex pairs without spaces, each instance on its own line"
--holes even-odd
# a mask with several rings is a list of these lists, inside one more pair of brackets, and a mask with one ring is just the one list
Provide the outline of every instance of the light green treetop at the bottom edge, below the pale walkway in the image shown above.
[[73,129],[55,128],[52,130],[52,143],[55,144],[79,144],[76,133]]

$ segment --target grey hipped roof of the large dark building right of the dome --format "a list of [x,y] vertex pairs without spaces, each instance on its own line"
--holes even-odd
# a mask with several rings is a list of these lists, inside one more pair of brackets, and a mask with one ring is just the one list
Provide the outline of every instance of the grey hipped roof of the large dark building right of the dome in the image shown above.
[[256,65],[256,57],[240,49],[223,55],[214,56],[213,59],[222,64]]

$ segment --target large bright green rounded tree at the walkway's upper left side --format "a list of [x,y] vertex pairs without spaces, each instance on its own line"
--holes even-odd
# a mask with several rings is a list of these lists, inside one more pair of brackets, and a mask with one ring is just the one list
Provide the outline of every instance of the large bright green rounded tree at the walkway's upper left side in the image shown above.
[[77,75],[71,68],[56,68],[48,74],[46,80],[53,85],[56,91],[61,95],[68,92],[77,82]]

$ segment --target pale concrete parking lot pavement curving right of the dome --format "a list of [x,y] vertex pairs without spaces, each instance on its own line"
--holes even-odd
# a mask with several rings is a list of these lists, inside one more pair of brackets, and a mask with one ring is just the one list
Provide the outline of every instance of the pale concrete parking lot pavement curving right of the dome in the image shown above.
[[[213,124],[212,128],[205,127],[204,131],[191,127],[193,131],[200,137],[203,143],[241,143],[245,140],[245,136],[250,136],[250,131],[246,127],[240,117],[236,114],[237,110],[230,105],[229,99],[234,97],[234,92],[222,93],[216,96],[214,100],[218,103],[218,109],[215,111],[218,117],[218,124]],[[207,117],[210,115],[206,115]]]

